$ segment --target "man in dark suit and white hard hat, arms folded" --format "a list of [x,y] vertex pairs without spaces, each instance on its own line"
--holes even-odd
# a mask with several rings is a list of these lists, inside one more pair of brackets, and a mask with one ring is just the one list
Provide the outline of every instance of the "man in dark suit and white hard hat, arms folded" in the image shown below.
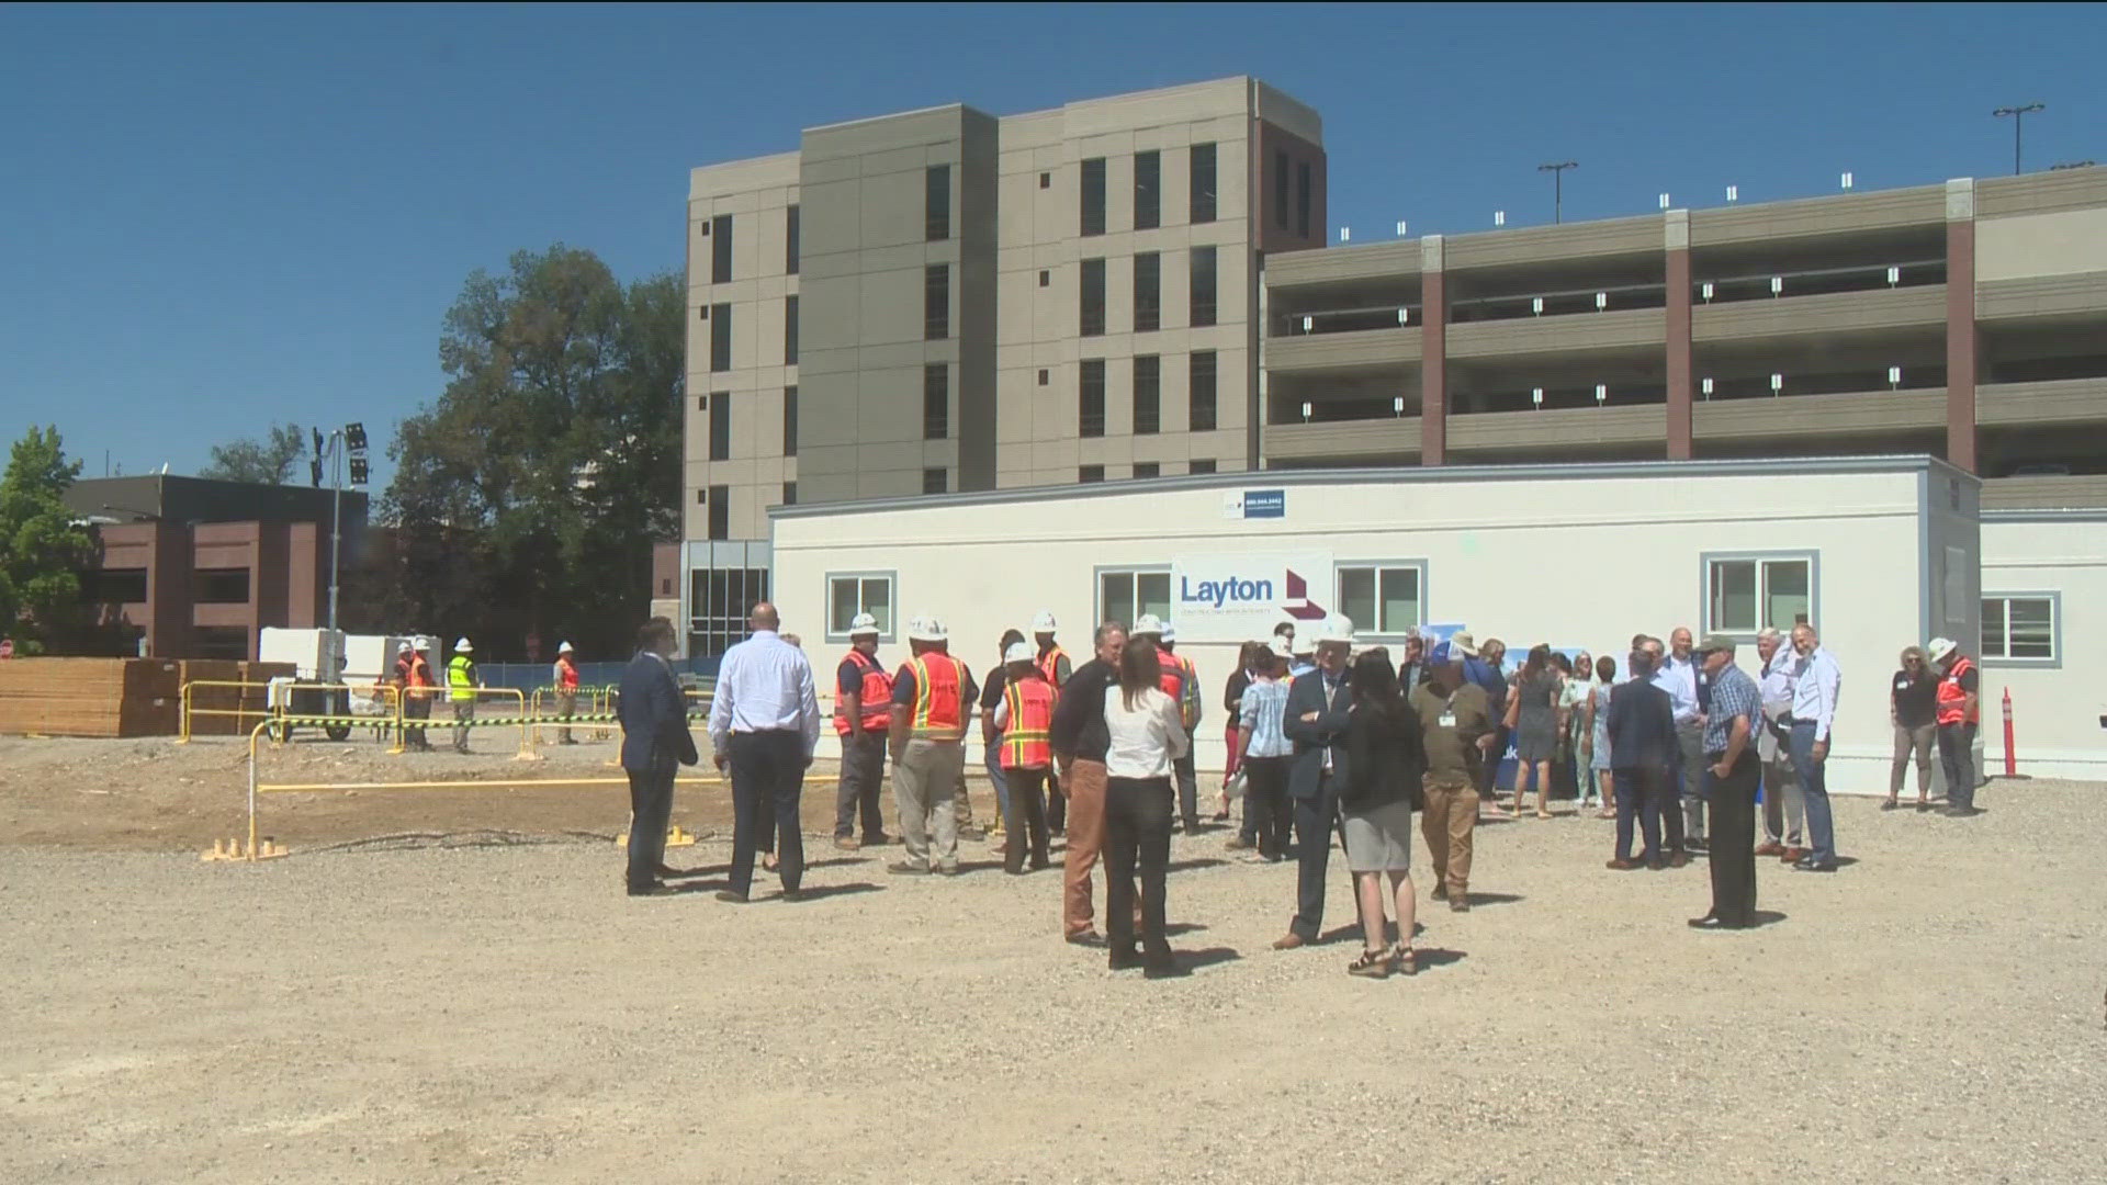
[[1296,742],[1287,768],[1287,797],[1296,805],[1296,917],[1275,951],[1294,951],[1317,940],[1323,928],[1323,877],[1332,860],[1332,827],[1338,820],[1338,786],[1346,784],[1346,719],[1353,687],[1346,685],[1346,656],[1353,652],[1353,622],[1327,618],[1317,630],[1317,671],[1298,675],[1287,687],[1281,732]]

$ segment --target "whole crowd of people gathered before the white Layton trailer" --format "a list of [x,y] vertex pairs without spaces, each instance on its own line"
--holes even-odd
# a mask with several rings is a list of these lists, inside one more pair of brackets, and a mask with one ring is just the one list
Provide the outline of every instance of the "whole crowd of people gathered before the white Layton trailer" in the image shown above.
[[[752,637],[725,654],[708,723],[735,812],[731,883],[716,896],[748,900],[756,852],[773,852],[782,894],[796,900],[805,869],[799,797],[822,715],[811,664],[777,633],[775,607],[759,605],[750,626]],[[834,679],[834,843],[891,843],[879,801],[889,761],[904,858],[887,871],[957,875],[961,835],[971,833],[965,738],[978,706],[1003,869],[1049,869],[1049,839],[1064,835],[1062,936],[1108,949],[1112,970],[1184,974],[1165,938],[1165,879],[1174,829],[1201,829],[1193,763],[1201,696],[1193,662],[1176,652],[1176,630],[1146,614],[1131,628],[1104,622],[1091,658],[1075,664],[1054,616],[1039,614],[1030,641],[1022,630],[1001,639],[984,683],[950,654],[936,618],[910,622],[910,658],[895,671],[877,660],[881,630],[870,616],[858,616],[849,635]],[[630,894],[672,892],[664,833],[674,770],[700,759],[668,664],[672,652],[672,624],[653,618],[622,681],[622,763],[634,810]],[[1536,645],[1509,673],[1504,643],[1477,643],[1471,633],[1410,637],[1399,658],[1382,645],[1357,654],[1344,618],[1319,622],[1306,645],[1298,645],[1294,622],[1281,622],[1268,641],[1245,643],[1224,687],[1228,761],[1214,818],[1228,820],[1241,797],[1243,818],[1228,846],[1252,860],[1298,862],[1296,909],[1273,947],[1317,943],[1338,837],[1363,934],[1346,970],[1412,974],[1412,816],[1420,816],[1433,898],[1464,913],[1475,829],[1485,818],[1553,818],[1557,770],[1570,772],[1576,814],[1599,803],[1599,816],[1616,820],[1610,869],[1686,867],[1705,854],[1713,900],[1690,926],[1757,924],[1757,858],[1776,856],[1804,873],[1837,871],[1827,759],[1842,668],[1808,622],[1783,635],[1761,630],[1753,673],[1736,652],[1732,637],[1694,639],[1675,628],[1667,643],[1635,635],[1622,666],[1610,656],[1568,658]],[[1947,814],[1974,814],[1976,700],[1974,666],[1951,639],[1903,652],[1890,694],[1886,810],[1898,805],[1911,759],[1917,805],[1930,808],[1936,749]],[[1513,799],[1500,803],[1496,780],[1509,746]],[[1102,934],[1091,902],[1100,862]]]

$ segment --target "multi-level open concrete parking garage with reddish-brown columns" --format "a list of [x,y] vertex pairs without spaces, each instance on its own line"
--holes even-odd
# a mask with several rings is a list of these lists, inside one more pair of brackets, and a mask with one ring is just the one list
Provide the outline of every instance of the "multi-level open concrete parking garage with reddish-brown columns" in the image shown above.
[[1266,257],[1266,468],[1932,453],[2107,506],[2107,169]]

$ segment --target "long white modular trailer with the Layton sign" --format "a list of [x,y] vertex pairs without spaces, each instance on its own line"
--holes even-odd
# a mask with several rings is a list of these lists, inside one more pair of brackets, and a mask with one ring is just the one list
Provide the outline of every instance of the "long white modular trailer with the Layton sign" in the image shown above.
[[[1978,633],[1978,489],[1934,458],[1271,470],[1060,489],[784,506],[784,628],[826,656],[849,618],[938,616],[976,673],[1005,628],[1051,609],[1091,624],[1165,611],[1199,668],[1201,768],[1220,770],[1237,643],[1281,620],[1355,618],[1363,645],[1462,626],[1519,654],[1624,654],[1675,626],[1745,639],[1806,614],[1844,668],[1837,791],[1886,793],[1888,677],[1913,641]],[[824,641],[822,641],[824,639]],[[822,679],[830,683],[830,679]]]

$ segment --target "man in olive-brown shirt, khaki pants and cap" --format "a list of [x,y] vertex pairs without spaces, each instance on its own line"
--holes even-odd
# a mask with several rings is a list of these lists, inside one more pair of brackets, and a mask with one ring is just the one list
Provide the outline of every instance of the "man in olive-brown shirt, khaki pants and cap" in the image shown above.
[[1494,738],[1492,700],[1462,677],[1462,656],[1441,643],[1426,656],[1433,679],[1412,692],[1426,742],[1426,810],[1420,831],[1433,856],[1435,900],[1471,909],[1471,846],[1477,833],[1477,770]]

